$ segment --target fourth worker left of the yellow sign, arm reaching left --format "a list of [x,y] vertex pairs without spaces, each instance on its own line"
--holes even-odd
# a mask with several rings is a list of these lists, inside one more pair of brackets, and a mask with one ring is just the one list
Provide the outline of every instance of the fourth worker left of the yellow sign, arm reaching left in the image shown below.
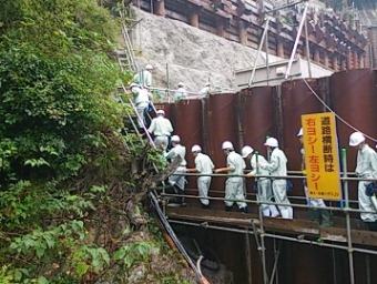
[[210,209],[208,190],[211,185],[211,175],[215,165],[213,164],[211,158],[202,153],[202,148],[200,145],[193,145],[191,149],[195,158],[195,168],[187,169],[188,173],[200,173],[203,174],[197,178],[197,191],[201,197],[201,203],[203,209]]

